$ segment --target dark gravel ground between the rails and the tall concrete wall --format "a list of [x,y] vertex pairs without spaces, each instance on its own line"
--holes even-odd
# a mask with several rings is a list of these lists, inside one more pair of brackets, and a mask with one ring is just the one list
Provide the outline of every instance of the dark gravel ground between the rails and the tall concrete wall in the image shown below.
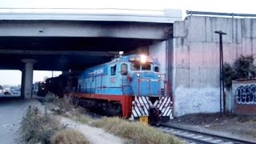
[[167,122],[191,130],[256,142],[256,116],[188,114]]

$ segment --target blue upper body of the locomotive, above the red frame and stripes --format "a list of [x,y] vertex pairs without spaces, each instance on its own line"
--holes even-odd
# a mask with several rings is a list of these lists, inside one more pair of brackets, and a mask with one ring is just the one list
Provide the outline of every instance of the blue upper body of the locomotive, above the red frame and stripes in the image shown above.
[[127,55],[86,69],[78,77],[78,92],[158,97],[163,91],[156,58]]

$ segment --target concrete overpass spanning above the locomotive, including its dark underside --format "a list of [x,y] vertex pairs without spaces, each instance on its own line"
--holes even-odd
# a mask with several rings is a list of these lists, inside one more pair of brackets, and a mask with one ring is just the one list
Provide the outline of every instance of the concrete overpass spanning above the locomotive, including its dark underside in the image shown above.
[[166,73],[173,23],[182,19],[181,10],[158,15],[21,10],[0,13],[0,69],[22,70],[25,98],[31,95],[33,70],[82,70],[118,51],[154,53]]

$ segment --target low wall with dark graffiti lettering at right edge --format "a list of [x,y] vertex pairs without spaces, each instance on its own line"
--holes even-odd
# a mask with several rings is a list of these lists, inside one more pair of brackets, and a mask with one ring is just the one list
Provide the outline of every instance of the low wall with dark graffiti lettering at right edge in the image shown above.
[[256,115],[256,80],[233,81],[234,114]]

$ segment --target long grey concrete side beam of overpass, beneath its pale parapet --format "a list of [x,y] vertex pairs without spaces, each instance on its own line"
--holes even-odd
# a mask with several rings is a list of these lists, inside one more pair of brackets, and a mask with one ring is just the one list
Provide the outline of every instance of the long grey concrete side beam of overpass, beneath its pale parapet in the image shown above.
[[[1,14],[0,14],[1,16]],[[166,39],[166,23],[1,21],[2,37],[84,37]]]

